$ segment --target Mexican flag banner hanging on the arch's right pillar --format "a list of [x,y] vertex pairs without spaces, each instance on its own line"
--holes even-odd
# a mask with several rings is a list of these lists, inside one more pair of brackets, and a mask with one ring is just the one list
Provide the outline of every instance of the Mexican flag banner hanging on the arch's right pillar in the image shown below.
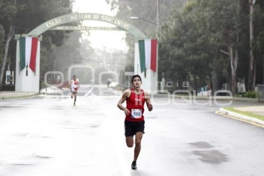
[[139,40],[139,60],[141,72],[146,68],[157,71],[157,39]]

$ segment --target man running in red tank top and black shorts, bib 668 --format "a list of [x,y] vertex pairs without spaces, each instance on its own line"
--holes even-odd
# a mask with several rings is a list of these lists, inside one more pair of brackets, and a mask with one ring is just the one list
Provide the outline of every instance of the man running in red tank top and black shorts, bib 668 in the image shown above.
[[[132,76],[131,83],[133,88],[125,90],[121,99],[117,103],[117,107],[125,112],[125,141],[128,147],[133,147],[135,135],[135,149],[134,160],[131,164],[132,169],[137,169],[136,161],[139,156],[141,148],[141,139],[144,133],[144,103],[147,103],[149,111],[152,111],[153,107],[149,99],[149,94],[143,91],[141,86],[141,77],[139,75]],[[122,106],[122,103],[126,101],[126,108]]]

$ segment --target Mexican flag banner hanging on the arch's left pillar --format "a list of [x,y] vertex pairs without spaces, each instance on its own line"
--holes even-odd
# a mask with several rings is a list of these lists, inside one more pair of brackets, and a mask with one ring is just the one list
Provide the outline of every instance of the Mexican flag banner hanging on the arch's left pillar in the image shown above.
[[30,69],[36,71],[36,58],[38,49],[37,37],[20,37],[19,51],[20,51],[20,71],[27,65]]

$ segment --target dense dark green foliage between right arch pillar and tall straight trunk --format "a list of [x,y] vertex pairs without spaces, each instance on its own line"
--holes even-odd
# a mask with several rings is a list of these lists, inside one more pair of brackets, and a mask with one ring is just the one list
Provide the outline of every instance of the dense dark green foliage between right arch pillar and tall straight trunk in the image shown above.
[[231,81],[230,55],[224,52],[238,48],[235,73],[244,79],[248,74],[247,18],[248,3],[239,0],[191,0],[182,10],[172,11],[162,26],[159,74],[189,81],[193,89],[209,83],[217,90]]

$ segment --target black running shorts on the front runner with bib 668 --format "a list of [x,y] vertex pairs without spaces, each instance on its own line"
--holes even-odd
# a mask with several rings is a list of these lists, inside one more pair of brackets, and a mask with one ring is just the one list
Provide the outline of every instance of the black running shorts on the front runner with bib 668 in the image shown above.
[[125,120],[125,136],[134,136],[136,132],[144,132],[145,128],[145,121],[140,122],[131,122],[128,120]]

